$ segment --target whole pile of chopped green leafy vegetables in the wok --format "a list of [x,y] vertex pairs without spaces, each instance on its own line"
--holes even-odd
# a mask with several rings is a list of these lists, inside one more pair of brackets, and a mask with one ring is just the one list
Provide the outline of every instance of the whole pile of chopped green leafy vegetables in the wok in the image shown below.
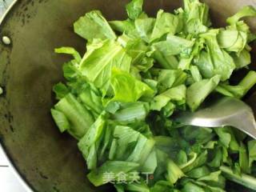
[[[56,49],[74,58],[63,66],[66,83],[54,86],[59,101],[51,114],[78,139],[90,182],[113,183],[118,192],[220,192],[228,179],[256,190],[256,141],[228,126],[172,121],[210,95],[242,98],[254,86],[256,72],[247,66],[256,37],[241,18],[256,10],[246,6],[215,29],[198,0],[156,18],[142,4],[131,1],[124,21],[107,22],[99,10],[79,18],[74,32],[86,39],[83,56]],[[239,69],[247,74],[231,84]]]

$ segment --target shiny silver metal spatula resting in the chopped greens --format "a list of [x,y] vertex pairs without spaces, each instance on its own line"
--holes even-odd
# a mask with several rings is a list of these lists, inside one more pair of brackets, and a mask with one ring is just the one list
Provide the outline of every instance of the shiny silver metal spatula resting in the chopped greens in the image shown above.
[[190,126],[234,126],[256,139],[254,112],[245,102],[236,98],[222,98],[194,113],[178,114],[175,120]]

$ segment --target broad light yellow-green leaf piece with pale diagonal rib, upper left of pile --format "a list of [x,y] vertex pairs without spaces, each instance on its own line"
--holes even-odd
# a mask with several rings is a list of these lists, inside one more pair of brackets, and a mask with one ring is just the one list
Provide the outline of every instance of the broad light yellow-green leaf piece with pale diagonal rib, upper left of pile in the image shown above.
[[113,68],[130,71],[131,58],[117,42],[106,40],[95,45],[82,58],[79,66],[81,73],[103,92],[110,86]]

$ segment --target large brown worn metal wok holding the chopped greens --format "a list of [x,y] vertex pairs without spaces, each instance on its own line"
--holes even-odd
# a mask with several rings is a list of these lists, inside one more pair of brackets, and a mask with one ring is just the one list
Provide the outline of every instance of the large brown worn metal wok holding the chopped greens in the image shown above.
[[[77,142],[60,134],[50,117],[55,102],[52,86],[63,80],[62,63],[69,60],[54,54],[54,48],[74,46],[82,52],[85,42],[73,33],[74,21],[94,9],[102,10],[108,19],[126,18],[127,2],[20,0],[1,23],[0,37],[7,35],[11,44],[0,43],[0,86],[4,89],[0,96],[0,138],[10,161],[34,191],[114,191],[108,186],[96,189],[90,185]],[[225,26],[226,18],[242,6],[256,6],[256,0],[205,2],[215,26]],[[151,15],[160,8],[171,11],[179,6],[182,1],[145,0],[146,12]],[[254,32],[255,22],[248,20]],[[256,109],[256,94],[251,95],[250,104]],[[227,186],[228,191],[232,185]]]

